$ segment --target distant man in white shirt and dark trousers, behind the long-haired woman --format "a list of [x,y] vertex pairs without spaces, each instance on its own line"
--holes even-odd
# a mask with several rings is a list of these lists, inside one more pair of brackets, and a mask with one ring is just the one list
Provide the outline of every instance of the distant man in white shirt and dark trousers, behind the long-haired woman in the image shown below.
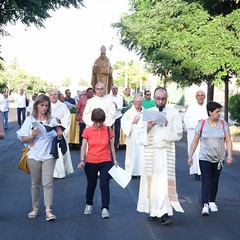
[[[26,119],[26,100],[27,95],[24,93],[23,88],[19,88],[17,95],[17,119],[18,119],[18,128],[21,128],[23,122]],[[21,118],[22,115],[22,118]]]

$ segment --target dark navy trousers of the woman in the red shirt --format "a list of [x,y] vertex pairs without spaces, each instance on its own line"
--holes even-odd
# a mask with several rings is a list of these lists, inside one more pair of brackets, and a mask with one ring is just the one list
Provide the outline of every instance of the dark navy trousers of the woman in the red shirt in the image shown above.
[[111,176],[108,171],[112,167],[112,162],[86,163],[84,171],[87,177],[86,204],[93,205],[94,192],[97,186],[98,172],[100,172],[100,190],[102,197],[102,207],[109,209],[110,190],[109,183]]

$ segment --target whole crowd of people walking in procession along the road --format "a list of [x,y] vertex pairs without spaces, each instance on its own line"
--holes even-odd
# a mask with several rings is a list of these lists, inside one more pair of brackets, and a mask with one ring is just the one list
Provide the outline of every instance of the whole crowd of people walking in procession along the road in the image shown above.
[[[109,87],[109,86],[108,86]],[[56,220],[53,214],[53,179],[65,178],[74,172],[69,148],[70,125],[77,124],[80,159],[86,187],[85,215],[91,215],[94,192],[100,181],[102,218],[110,217],[110,180],[108,171],[119,167],[116,151],[121,141],[126,144],[125,170],[140,179],[137,211],[149,218],[160,219],[163,225],[173,223],[173,210],[184,212],[177,193],[175,142],[187,129],[190,174],[202,181],[203,216],[217,212],[216,197],[223,162],[231,164],[232,142],[227,122],[220,119],[222,106],[205,103],[205,93],[196,92],[195,104],[188,107],[182,119],[179,111],[168,105],[166,88],[144,91],[134,96],[130,88],[121,95],[118,86],[97,82],[85,92],[65,97],[57,90],[32,95],[29,101],[23,88],[17,96],[18,139],[29,148],[27,164],[31,175],[32,209],[28,218],[38,215],[40,188],[43,186],[46,220]],[[7,94],[0,99],[3,130],[8,129],[9,101]],[[71,118],[74,114],[74,118]],[[74,121],[74,122],[73,122]],[[225,144],[227,156],[225,155]]]

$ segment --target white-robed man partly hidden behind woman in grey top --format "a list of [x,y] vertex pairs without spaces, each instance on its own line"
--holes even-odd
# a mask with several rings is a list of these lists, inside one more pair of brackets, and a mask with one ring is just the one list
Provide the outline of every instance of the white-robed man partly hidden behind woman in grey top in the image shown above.
[[[201,119],[208,118],[206,104],[204,103],[205,93],[202,90],[196,92],[197,102],[189,105],[185,115],[184,115],[184,124],[187,129],[187,141],[188,141],[188,154],[190,147],[195,135],[195,129],[198,124],[198,121]],[[190,167],[190,174],[195,174],[195,180],[200,180],[201,170],[199,167],[199,151],[200,143],[198,144],[194,155],[193,155],[193,164]]]

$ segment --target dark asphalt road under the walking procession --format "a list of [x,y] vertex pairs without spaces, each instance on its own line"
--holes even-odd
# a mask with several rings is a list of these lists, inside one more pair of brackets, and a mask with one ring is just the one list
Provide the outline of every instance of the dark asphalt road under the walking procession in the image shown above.
[[[36,219],[27,218],[31,209],[30,176],[18,170],[21,143],[16,139],[16,122],[10,123],[6,139],[0,141],[0,239],[7,240],[239,240],[240,190],[239,152],[235,162],[224,166],[217,204],[219,212],[200,215],[200,182],[188,174],[186,136],[177,143],[177,188],[185,213],[174,213],[174,224],[162,226],[136,211],[139,179],[126,189],[111,182],[110,219],[101,219],[100,191],[95,194],[94,213],[83,215],[86,179],[76,168],[79,151],[72,150],[75,172],[54,181],[54,213],[57,221],[46,222],[43,206]],[[123,166],[125,150],[117,152]]]

